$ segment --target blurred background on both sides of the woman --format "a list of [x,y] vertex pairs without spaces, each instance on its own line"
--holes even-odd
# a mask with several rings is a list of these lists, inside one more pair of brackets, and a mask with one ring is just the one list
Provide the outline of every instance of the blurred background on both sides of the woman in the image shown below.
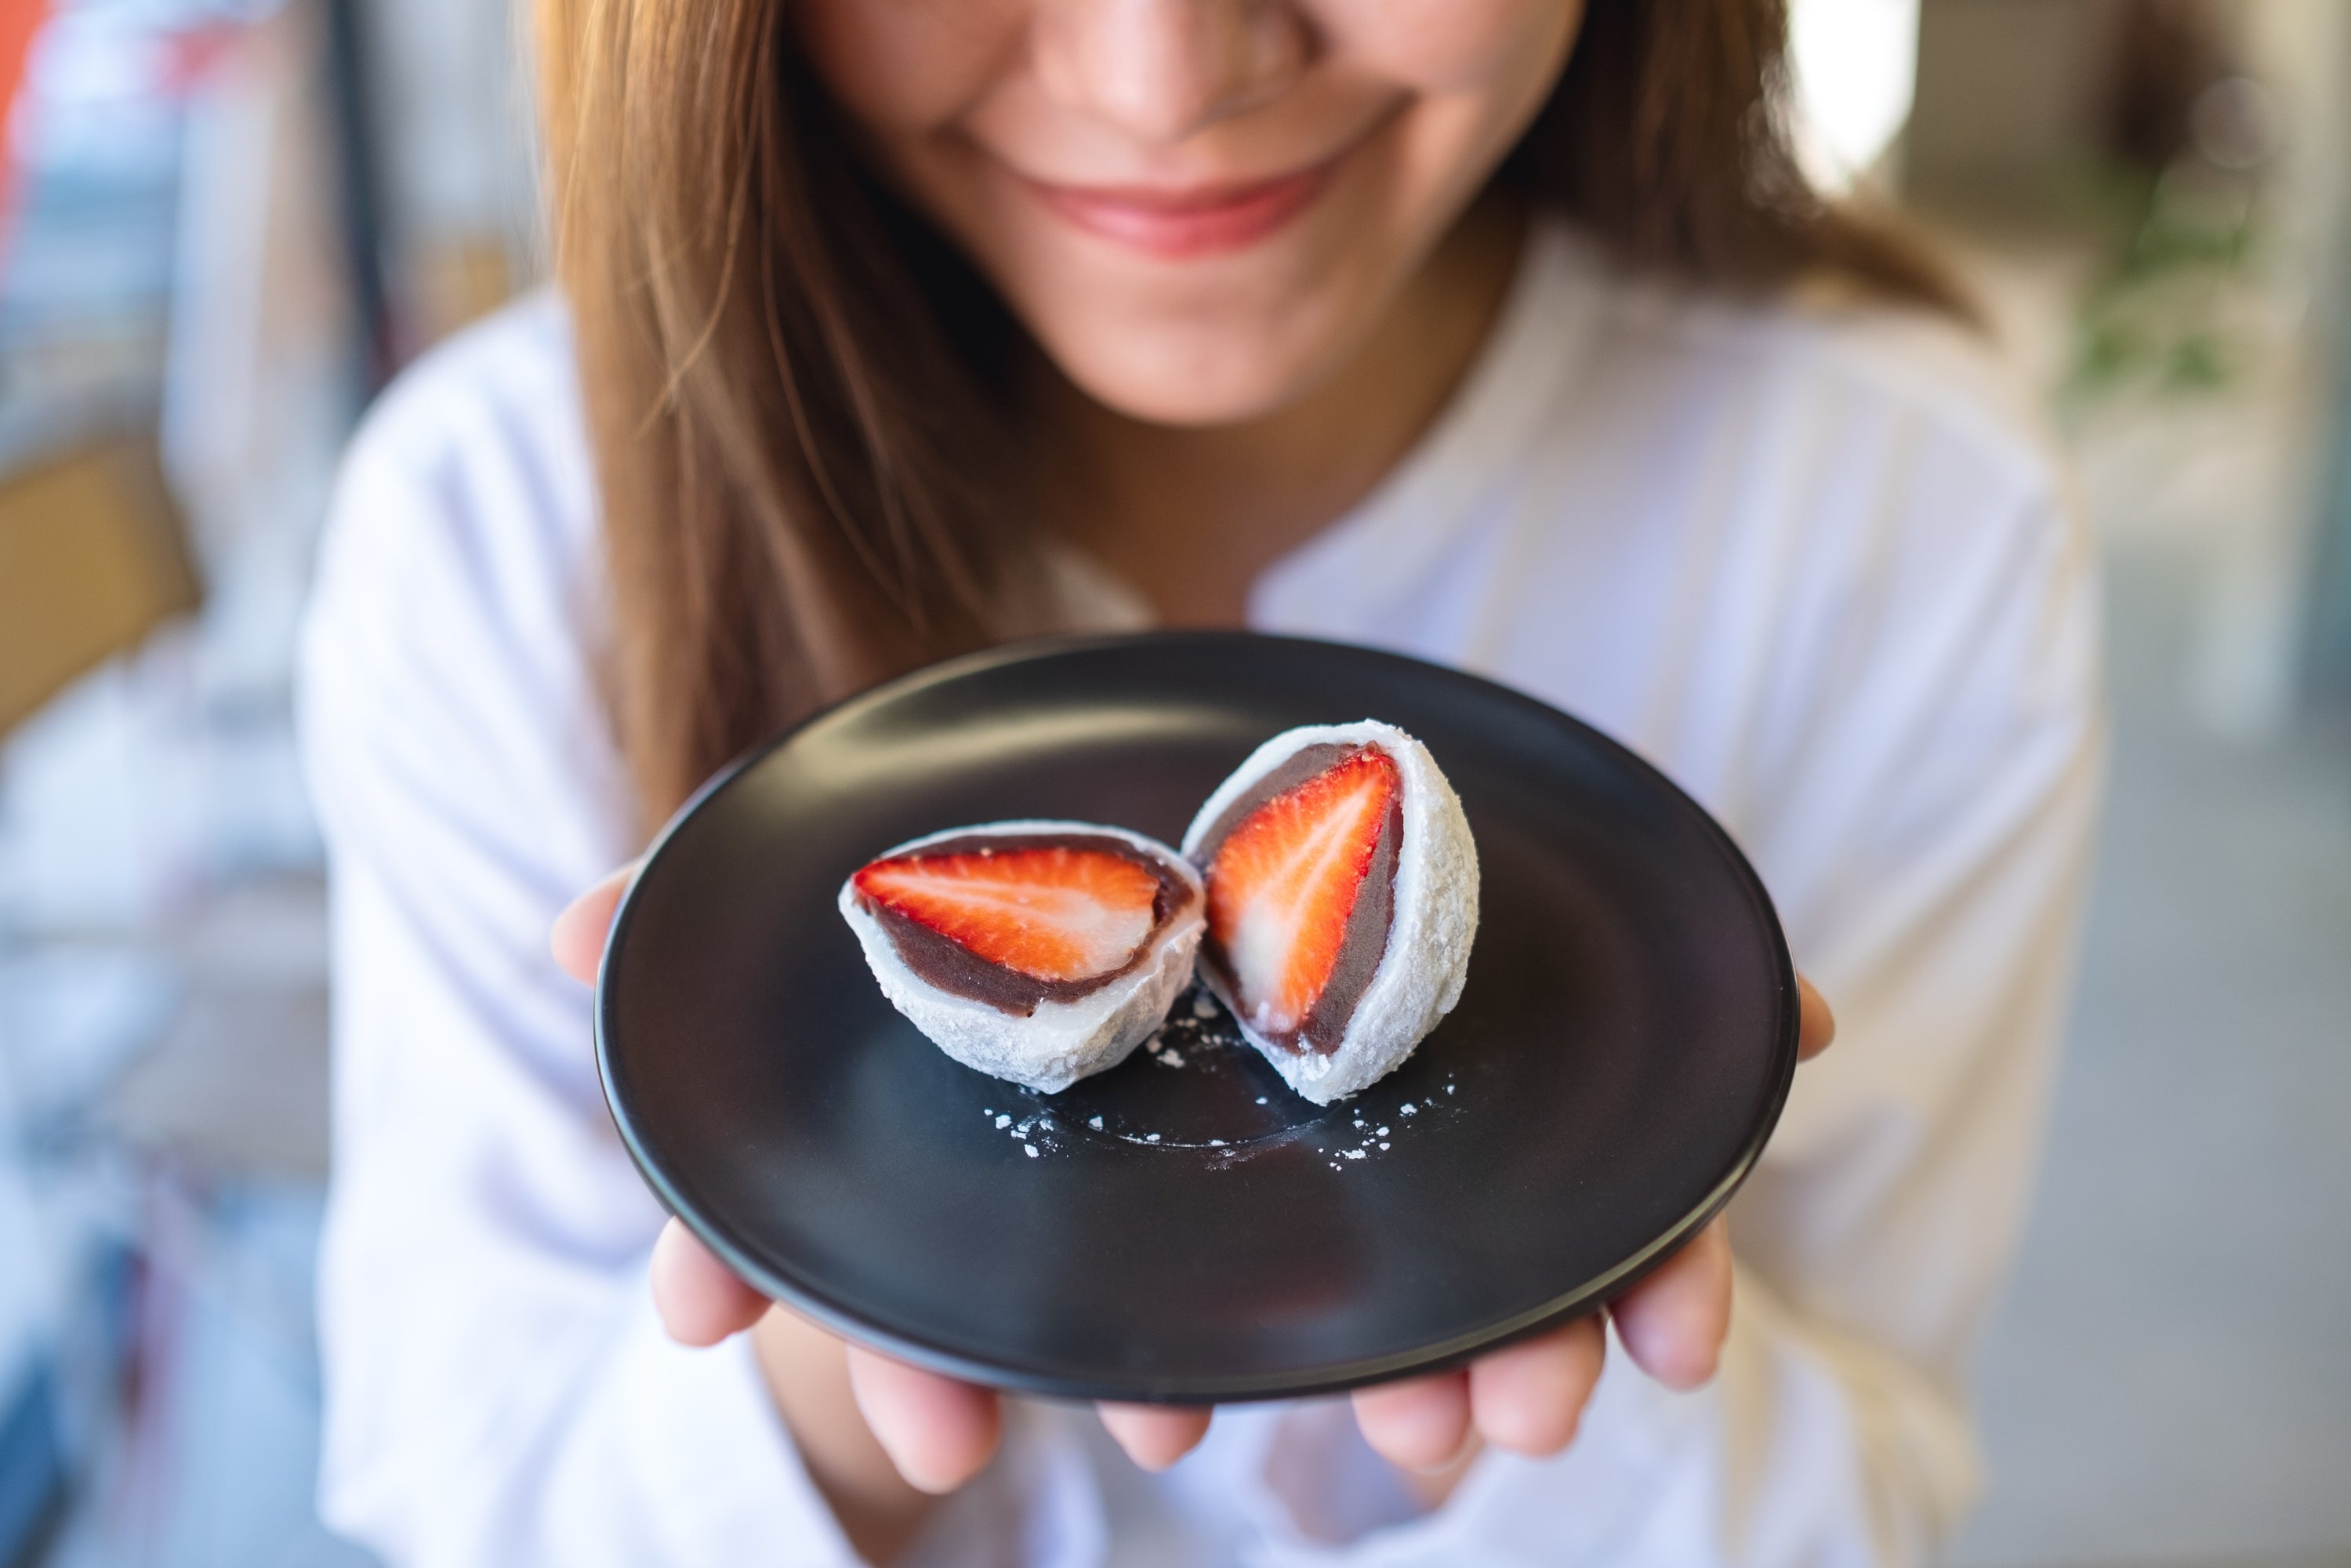
[[[536,284],[505,0],[0,0],[0,1568],[313,1568],[336,451]],[[2351,0],[1794,0],[2095,520],[2116,750],[1963,1568],[2351,1563]]]

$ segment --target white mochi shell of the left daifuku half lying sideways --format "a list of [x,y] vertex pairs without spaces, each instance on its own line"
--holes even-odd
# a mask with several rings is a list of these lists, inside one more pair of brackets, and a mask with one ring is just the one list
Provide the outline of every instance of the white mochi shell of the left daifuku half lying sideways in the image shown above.
[[1192,954],[1199,933],[1206,929],[1206,903],[1201,898],[1199,872],[1159,839],[1103,823],[980,823],[976,827],[947,827],[907,839],[886,849],[875,860],[912,853],[926,844],[962,837],[1013,837],[1013,835],[1100,835],[1124,839],[1152,858],[1171,865],[1192,891],[1190,903],[1152,940],[1143,961],[1074,1001],[1039,1001],[1027,1018],[1016,1018],[985,1001],[945,992],[917,976],[889,931],[872,914],[858,907],[856,882],[842,884],[842,919],[858,936],[865,964],[882,983],[882,994],[905,1013],[931,1044],[955,1060],[990,1077],[1011,1079],[1041,1093],[1058,1093],[1081,1077],[1117,1067],[1126,1053],[1143,1044],[1159,1020],[1166,1018],[1176,994],[1192,983]]

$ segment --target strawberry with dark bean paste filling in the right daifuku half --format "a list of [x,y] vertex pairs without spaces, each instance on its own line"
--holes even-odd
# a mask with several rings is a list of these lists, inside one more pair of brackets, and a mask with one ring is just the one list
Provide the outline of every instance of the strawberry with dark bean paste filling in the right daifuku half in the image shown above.
[[1333,1051],[1387,950],[1404,783],[1380,748],[1307,750],[1208,849],[1208,952],[1258,1034]]

